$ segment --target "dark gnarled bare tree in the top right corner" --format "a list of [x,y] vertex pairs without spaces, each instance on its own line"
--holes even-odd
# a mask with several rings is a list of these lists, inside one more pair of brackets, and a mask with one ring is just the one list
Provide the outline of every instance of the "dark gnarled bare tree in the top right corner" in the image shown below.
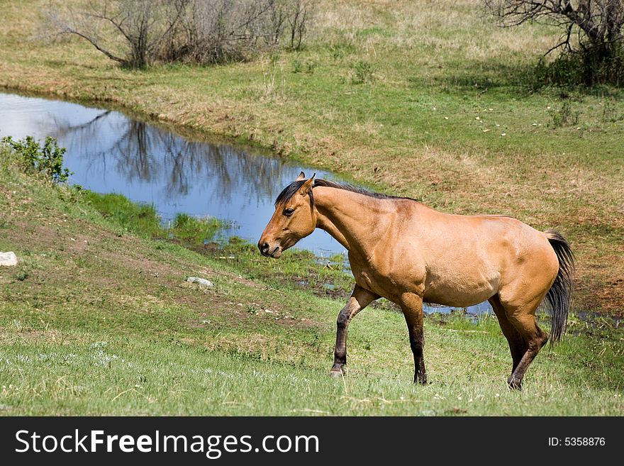
[[484,0],[486,8],[503,26],[530,21],[562,28],[558,43],[546,54],[562,48],[578,54],[585,67],[586,84],[596,70],[619,66],[614,62],[623,48],[623,0]]

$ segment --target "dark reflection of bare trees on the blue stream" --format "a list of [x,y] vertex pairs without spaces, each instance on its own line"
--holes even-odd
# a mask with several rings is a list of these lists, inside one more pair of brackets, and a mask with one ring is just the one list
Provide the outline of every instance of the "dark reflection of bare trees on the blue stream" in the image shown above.
[[[277,159],[233,146],[186,140],[143,121],[119,118],[116,112],[103,111],[79,125],[61,118],[55,118],[55,123],[57,138],[70,139],[72,152],[84,157],[92,171],[115,167],[128,184],[137,179],[147,183],[163,180],[167,197],[189,194],[189,185],[202,179],[218,179],[215,200],[231,203],[233,198],[240,199],[241,193],[247,199],[274,199],[283,187],[275,180],[284,178],[284,171],[296,172]],[[111,144],[102,145],[98,138],[102,125],[109,127],[106,133],[117,135]]]

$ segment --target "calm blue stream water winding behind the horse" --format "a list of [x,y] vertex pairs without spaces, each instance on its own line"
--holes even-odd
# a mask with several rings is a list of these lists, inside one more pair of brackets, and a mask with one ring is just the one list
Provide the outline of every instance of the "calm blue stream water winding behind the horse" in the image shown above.
[[[277,194],[303,170],[325,179],[335,175],[301,167],[260,150],[182,137],[169,129],[119,111],[0,93],[0,137],[52,136],[65,152],[69,179],[99,193],[123,194],[152,204],[166,224],[177,213],[213,216],[233,222],[225,237],[236,235],[255,243],[262,234]],[[345,249],[322,230],[297,243],[323,263]],[[346,257],[346,254],[345,254]],[[348,272],[347,260],[342,268]],[[450,312],[425,306],[425,312]],[[488,303],[470,306],[468,314],[491,313]]]

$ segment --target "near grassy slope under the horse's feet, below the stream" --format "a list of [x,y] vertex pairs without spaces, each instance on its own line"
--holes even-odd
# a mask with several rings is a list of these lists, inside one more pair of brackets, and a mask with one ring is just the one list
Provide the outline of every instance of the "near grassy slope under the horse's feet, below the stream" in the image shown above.
[[[624,412],[621,330],[584,331],[576,318],[518,393],[506,389],[511,357],[491,316],[427,318],[431,383],[419,387],[403,316],[377,306],[351,324],[349,375],[331,379],[343,301],[301,289],[289,262],[264,260],[262,274],[240,243],[200,254],[132,233],[138,223],[102,215],[110,204],[26,177],[0,155],[0,250],[20,259],[0,269],[1,414]],[[303,256],[299,267],[332,272]]]

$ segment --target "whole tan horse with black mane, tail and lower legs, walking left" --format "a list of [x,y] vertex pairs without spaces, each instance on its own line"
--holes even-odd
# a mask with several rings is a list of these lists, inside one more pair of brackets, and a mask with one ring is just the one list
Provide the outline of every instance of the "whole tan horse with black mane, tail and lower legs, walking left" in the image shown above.
[[425,384],[423,301],[445,306],[490,302],[513,360],[507,383],[520,389],[535,355],[548,340],[535,321],[546,297],[551,343],[565,331],[574,257],[555,231],[537,231],[508,216],[461,216],[413,199],[386,196],[303,172],[275,201],[258,248],[277,259],[315,228],[349,252],[355,287],[338,314],[331,375],[347,364],[347,326],[375,299],[398,304],[405,316],[416,367]]

